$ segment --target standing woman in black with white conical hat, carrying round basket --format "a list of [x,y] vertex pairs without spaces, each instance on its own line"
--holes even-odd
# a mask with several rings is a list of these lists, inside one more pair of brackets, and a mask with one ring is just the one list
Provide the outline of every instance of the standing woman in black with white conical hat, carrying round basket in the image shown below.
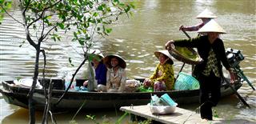
[[226,31],[212,19],[198,30],[198,33],[207,35],[187,40],[170,40],[166,42],[166,49],[171,50],[174,46],[197,48],[198,54],[204,60],[194,67],[193,72],[200,83],[201,118],[212,120],[211,109],[218,104],[221,96],[222,65],[229,70],[231,83],[234,82],[234,70],[227,62],[225,47],[222,39],[219,38],[219,34],[226,34]]

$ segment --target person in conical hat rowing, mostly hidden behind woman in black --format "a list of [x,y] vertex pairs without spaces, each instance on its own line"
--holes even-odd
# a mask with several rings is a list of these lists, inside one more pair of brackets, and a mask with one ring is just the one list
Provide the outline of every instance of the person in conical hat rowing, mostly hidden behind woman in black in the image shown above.
[[207,22],[210,22],[211,19],[217,18],[217,16],[210,12],[210,10],[206,9],[203,10],[202,13],[198,14],[196,18],[200,18],[202,22],[195,26],[180,26],[179,30],[198,31],[202,26],[206,25]]

